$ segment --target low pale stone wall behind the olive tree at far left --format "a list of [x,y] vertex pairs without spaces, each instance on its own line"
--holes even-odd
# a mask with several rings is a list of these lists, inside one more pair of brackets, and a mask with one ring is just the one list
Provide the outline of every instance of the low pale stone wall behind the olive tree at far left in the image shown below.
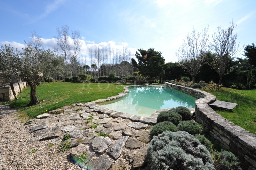
[[[26,82],[24,82],[24,85],[26,87]],[[24,85],[22,82],[20,82],[20,88],[23,89]],[[20,88],[18,83],[14,83],[14,90],[16,94],[20,93]],[[12,93],[12,89],[9,86],[0,87],[0,101],[9,101],[15,99]]]

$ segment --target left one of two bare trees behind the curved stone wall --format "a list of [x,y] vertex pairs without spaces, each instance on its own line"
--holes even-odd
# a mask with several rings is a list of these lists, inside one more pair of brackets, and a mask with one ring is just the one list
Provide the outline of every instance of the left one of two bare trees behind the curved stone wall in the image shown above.
[[208,28],[205,28],[201,33],[196,33],[194,29],[187,38],[183,40],[182,45],[176,52],[176,57],[179,59],[181,67],[186,69],[195,83],[195,77],[199,73],[200,67],[206,60],[206,50],[208,47],[209,35]]

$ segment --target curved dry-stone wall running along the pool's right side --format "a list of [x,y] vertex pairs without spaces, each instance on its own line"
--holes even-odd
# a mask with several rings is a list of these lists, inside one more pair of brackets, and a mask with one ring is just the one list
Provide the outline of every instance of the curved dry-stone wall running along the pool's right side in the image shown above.
[[[196,121],[206,128],[228,151],[233,152],[246,169],[256,169],[256,135],[236,126],[216,113],[208,104],[216,101],[210,93],[166,82],[166,86],[189,94],[196,100]],[[232,114],[232,113],[230,113]]]

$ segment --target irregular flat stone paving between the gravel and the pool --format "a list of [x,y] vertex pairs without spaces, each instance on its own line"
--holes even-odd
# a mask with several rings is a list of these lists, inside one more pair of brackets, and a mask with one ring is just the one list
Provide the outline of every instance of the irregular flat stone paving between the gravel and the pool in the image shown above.
[[[92,107],[96,109],[97,105],[79,103],[65,106],[61,108],[60,114],[44,114],[29,120],[25,127],[34,134],[35,140],[53,141],[52,143],[60,146],[60,150],[64,143],[69,143],[67,152],[70,152],[73,160],[80,161],[80,167],[93,170],[130,170],[143,167],[152,138],[149,132],[156,118],[116,117],[124,114],[121,112],[116,112],[111,117],[111,113],[115,112],[101,112],[100,109],[96,112]],[[66,134],[70,134],[71,138],[64,140]],[[85,152],[87,157],[81,161],[79,157]]]

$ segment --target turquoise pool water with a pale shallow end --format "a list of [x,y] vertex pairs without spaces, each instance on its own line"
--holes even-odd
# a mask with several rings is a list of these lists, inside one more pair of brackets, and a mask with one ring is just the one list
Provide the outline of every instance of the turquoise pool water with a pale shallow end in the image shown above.
[[149,117],[159,109],[184,106],[195,108],[196,98],[164,86],[132,86],[129,94],[100,103],[108,109]]

